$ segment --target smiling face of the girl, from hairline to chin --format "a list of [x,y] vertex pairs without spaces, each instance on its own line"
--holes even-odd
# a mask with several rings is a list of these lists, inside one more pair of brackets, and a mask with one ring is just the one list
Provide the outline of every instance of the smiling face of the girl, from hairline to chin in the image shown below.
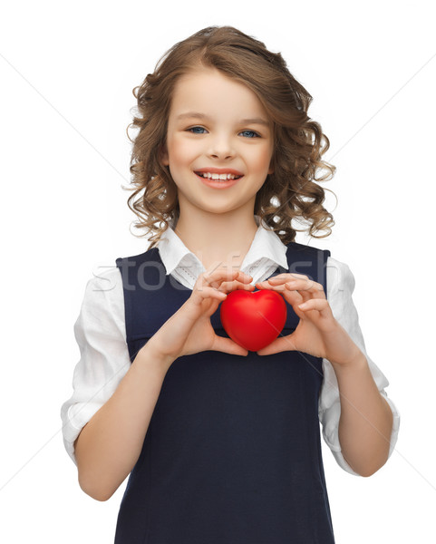
[[[182,213],[251,210],[273,172],[273,126],[257,95],[216,69],[180,77],[161,163],[178,187]],[[200,174],[199,172],[202,172]],[[236,180],[213,180],[224,174]],[[205,179],[206,176],[206,179]]]

